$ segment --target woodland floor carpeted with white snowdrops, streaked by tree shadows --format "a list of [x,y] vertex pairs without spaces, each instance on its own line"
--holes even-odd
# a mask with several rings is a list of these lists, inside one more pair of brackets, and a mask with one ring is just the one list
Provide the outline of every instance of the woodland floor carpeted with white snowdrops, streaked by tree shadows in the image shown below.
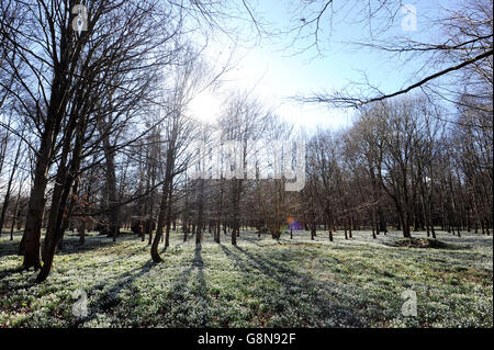
[[[424,238],[424,233],[413,233]],[[66,237],[45,283],[16,272],[22,259],[0,238],[0,327],[492,327],[493,239],[439,232],[447,249],[398,247],[400,233],[373,240],[318,233],[277,241],[240,233],[182,242],[171,233],[165,262],[147,242],[123,235]],[[161,249],[161,248],[160,248]],[[402,316],[402,293],[417,295],[417,317]],[[85,291],[87,317],[72,315]]]

